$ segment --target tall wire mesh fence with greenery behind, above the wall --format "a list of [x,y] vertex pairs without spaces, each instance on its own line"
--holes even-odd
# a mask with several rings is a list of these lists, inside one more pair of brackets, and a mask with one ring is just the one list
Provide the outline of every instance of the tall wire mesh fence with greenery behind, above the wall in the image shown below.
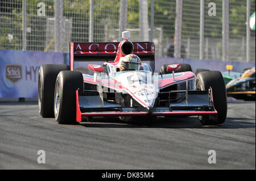
[[[175,33],[178,1],[181,0],[2,0],[0,49],[68,52],[69,41],[119,41],[119,31],[125,28],[131,32],[132,41],[152,39],[155,43],[156,56],[159,57],[175,56],[175,44],[180,42],[179,51],[183,58],[199,59],[201,46],[203,59],[222,60],[224,50],[222,37],[226,36],[222,34],[224,18],[222,1],[203,1],[202,39],[200,36],[202,35],[200,34],[202,0],[183,0],[178,6],[181,8],[179,12],[182,16],[181,38],[175,39],[175,35],[179,35]],[[246,0],[228,2],[228,60],[246,61],[248,2]],[[154,3],[152,10],[151,3]],[[93,7],[92,11],[90,7]],[[124,10],[126,13],[122,13]],[[250,14],[254,11],[255,0],[251,0]],[[151,21],[151,12],[154,12],[153,21]],[[91,26],[90,18],[93,19]],[[152,34],[151,22],[154,23]],[[122,28],[119,28],[120,26]],[[200,40],[203,40],[203,43],[200,43]],[[253,62],[255,30],[250,31],[249,43],[250,61]]]

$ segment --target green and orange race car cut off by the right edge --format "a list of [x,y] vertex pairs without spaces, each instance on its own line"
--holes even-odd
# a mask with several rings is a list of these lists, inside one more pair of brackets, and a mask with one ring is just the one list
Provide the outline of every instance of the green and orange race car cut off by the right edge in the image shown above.
[[235,99],[255,100],[255,68],[245,70],[241,77],[228,82],[226,91]]

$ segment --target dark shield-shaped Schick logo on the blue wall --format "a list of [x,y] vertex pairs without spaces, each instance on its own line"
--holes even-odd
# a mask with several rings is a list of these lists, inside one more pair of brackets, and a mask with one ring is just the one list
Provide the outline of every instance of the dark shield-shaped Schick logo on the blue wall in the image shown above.
[[22,79],[22,66],[19,64],[7,64],[5,66],[6,79],[16,83]]

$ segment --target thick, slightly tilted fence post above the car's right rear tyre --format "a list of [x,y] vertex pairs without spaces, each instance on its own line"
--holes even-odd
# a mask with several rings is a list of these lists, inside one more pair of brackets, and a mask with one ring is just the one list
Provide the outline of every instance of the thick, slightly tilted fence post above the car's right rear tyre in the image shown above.
[[182,3],[183,3],[183,0],[176,0],[175,42],[174,42],[175,43],[174,44],[174,57],[175,58],[180,58]]

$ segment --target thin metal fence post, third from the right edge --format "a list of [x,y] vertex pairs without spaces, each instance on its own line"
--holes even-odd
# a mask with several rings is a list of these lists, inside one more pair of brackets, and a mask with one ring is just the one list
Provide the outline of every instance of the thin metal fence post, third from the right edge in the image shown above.
[[204,59],[204,0],[200,2],[200,45],[199,59]]

